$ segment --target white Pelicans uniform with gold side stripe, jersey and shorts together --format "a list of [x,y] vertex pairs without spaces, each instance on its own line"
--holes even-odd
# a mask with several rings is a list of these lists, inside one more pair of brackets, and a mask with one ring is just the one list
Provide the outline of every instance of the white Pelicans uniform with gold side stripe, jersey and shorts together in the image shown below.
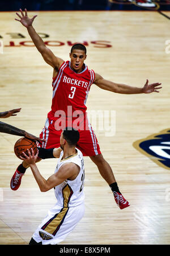
[[61,152],[55,173],[65,163],[75,163],[80,167],[74,180],[65,180],[54,189],[57,203],[48,211],[47,216],[33,233],[33,240],[42,245],[56,245],[75,228],[84,215],[84,161],[78,148],[76,154],[62,159]]

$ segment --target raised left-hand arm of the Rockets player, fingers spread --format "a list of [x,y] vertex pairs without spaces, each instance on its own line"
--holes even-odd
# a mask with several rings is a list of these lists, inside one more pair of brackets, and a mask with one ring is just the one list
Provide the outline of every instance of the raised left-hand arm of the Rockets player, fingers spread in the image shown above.
[[59,69],[63,60],[54,55],[54,53],[45,46],[44,41],[42,38],[37,34],[35,29],[32,26],[33,20],[36,18],[37,15],[34,15],[32,18],[28,17],[27,9],[25,9],[25,14],[23,13],[22,9],[20,10],[20,14],[16,13],[20,19],[18,20],[24,27],[27,28],[28,34],[31,36],[32,42],[35,44],[37,50],[41,53],[43,59],[46,63],[51,65],[55,69]]

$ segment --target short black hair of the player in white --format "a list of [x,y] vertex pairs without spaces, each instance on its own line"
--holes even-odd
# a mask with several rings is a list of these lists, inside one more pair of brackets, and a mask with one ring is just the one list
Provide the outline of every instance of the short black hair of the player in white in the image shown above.
[[70,146],[75,146],[80,138],[79,131],[73,127],[66,127],[63,129],[63,138]]

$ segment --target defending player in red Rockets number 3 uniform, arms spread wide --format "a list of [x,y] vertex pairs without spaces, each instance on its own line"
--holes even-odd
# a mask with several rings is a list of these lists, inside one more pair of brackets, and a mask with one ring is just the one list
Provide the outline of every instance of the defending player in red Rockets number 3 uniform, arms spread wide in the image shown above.
[[[16,14],[20,19],[15,20],[18,20],[27,28],[28,34],[31,36],[37,50],[41,53],[45,62],[53,67],[52,110],[48,113],[44,129],[40,134],[41,138],[46,139],[46,142],[42,143],[41,147],[46,148],[48,151],[48,158],[51,148],[51,155],[53,157],[53,148],[59,147],[59,137],[63,129],[63,127],[60,127],[59,129],[59,121],[65,120],[65,126],[74,127],[74,121],[76,121],[77,114],[79,114],[80,139],[76,147],[82,151],[84,156],[90,156],[91,160],[96,164],[101,176],[111,187],[118,207],[120,207],[120,209],[129,207],[130,204],[125,200],[118,189],[111,166],[109,166],[100,152],[99,143],[97,142],[94,130],[88,122],[88,119],[85,118],[88,92],[92,84],[95,84],[104,90],[123,94],[159,92],[158,89],[162,87],[159,87],[160,84],[158,82],[155,84],[148,84],[148,80],[142,88],[116,84],[112,81],[105,80],[99,74],[89,70],[87,65],[84,64],[87,55],[86,47],[82,44],[75,44],[71,48],[70,61],[65,62],[61,58],[55,56],[53,52],[45,46],[45,43],[33,28],[32,23],[37,15],[34,15],[33,18],[28,18],[27,9],[25,9],[25,14],[22,9],[20,9],[20,14]],[[61,114],[62,118],[59,118],[59,114]],[[77,129],[77,127],[75,127],[75,129]],[[44,153],[42,155],[39,154],[39,157],[44,159]],[[24,173],[26,168],[28,168],[28,166],[23,162],[17,168],[15,174],[17,172]],[[15,179],[15,174],[12,179]]]

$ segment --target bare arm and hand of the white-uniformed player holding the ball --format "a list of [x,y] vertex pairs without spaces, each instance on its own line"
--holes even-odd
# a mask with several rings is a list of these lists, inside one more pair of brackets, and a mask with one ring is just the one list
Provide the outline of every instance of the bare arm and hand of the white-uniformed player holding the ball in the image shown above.
[[41,192],[49,191],[50,189],[61,184],[66,179],[73,180],[79,173],[79,167],[74,163],[65,163],[63,164],[56,174],[51,175],[47,180],[40,174],[39,169],[36,166],[36,159],[39,155],[39,151],[34,155],[34,152],[31,148],[31,151],[28,151],[28,156],[23,152],[24,158],[20,156],[20,159],[24,160],[25,163],[29,165],[37,184],[39,185]]

